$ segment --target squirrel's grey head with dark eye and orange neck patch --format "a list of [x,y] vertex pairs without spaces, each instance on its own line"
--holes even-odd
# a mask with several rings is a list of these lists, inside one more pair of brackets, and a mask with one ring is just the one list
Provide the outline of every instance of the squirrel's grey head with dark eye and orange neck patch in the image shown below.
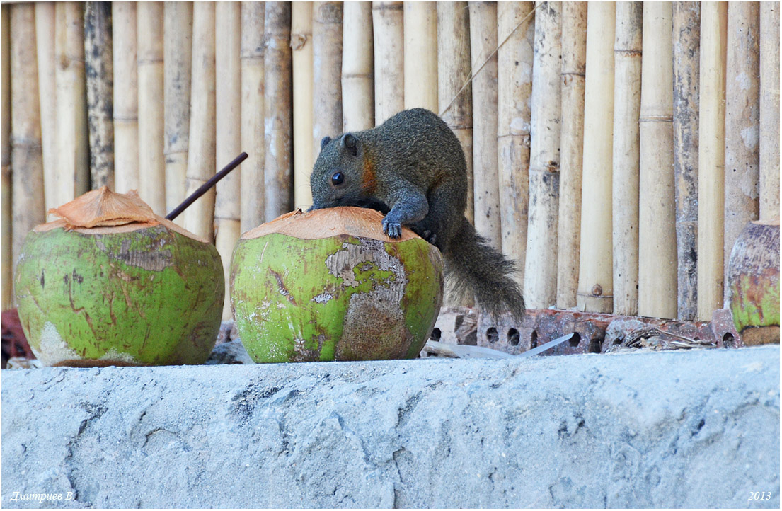
[[351,133],[324,137],[310,176],[312,209],[353,206],[374,193],[374,177],[361,140]]

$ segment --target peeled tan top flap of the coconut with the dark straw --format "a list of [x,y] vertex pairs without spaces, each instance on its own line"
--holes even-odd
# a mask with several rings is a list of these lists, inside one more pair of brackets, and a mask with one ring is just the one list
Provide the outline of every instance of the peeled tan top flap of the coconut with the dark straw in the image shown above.
[[82,234],[111,234],[146,229],[163,225],[182,236],[209,243],[207,239],[182,229],[172,221],[156,215],[147,203],[141,200],[135,190],[128,193],[114,193],[106,186],[84,193],[60,207],[48,211],[60,220],[36,225],[35,232],[46,232],[63,228]]

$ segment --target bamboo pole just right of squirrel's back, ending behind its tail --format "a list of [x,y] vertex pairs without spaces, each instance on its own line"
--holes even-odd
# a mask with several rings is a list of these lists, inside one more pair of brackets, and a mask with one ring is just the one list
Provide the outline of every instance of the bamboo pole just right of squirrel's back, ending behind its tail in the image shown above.
[[[472,69],[472,182],[475,230],[493,247],[500,249],[502,229],[499,175],[497,174],[497,3],[468,2],[470,9],[470,50]],[[533,307],[530,305],[530,307]]]

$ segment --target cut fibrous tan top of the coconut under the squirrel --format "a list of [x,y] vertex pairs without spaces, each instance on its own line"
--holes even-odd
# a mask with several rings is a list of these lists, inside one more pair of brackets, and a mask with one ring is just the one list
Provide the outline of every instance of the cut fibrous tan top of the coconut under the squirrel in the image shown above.
[[299,239],[322,239],[340,234],[400,242],[418,236],[407,227],[402,236],[391,239],[383,233],[383,214],[363,207],[328,207],[322,210],[296,210],[267,221],[242,234],[242,239],[260,238],[273,232]]

